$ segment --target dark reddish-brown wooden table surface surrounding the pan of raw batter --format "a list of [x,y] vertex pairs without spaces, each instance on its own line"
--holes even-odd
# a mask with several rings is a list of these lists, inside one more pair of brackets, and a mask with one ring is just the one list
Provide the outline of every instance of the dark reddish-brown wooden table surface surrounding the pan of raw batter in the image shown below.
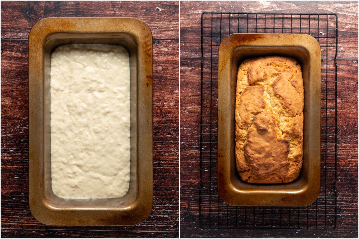
[[[156,8],[159,8],[159,11]],[[153,34],[153,209],[135,226],[47,226],[28,202],[28,34],[47,17],[135,17]],[[178,1],[1,1],[1,237],[178,237]]]

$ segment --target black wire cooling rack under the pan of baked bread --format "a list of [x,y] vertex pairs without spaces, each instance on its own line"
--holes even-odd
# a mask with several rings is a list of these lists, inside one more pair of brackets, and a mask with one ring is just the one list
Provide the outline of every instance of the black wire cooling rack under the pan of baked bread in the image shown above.
[[[201,228],[335,229],[337,15],[213,12],[202,13],[201,27]],[[321,46],[321,187],[318,199],[309,206],[231,206],[218,195],[218,48],[232,33],[304,33]]]

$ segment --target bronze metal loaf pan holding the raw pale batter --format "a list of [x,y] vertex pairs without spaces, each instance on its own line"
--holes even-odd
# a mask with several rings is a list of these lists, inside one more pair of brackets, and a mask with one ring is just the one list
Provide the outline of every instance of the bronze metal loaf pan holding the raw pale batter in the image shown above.
[[[51,189],[50,61],[64,44],[118,44],[130,56],[130,187],[123,197],[64,199]],[[64,129],[66,130],[66,129]],[[135,18],[46,18],[29,34],[29,204],[50,225],[134,225],[150,214],[152,34]]]

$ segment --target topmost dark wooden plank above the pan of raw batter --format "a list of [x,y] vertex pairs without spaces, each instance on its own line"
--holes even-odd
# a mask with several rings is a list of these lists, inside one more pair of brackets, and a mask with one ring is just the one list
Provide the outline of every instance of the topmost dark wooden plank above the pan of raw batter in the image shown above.
[[148,24],[154,39],[178,39],[178,11],[178,2],[170,1],[2,1],[1,38],[25,39],[42,18],[82,16],[134,17]]

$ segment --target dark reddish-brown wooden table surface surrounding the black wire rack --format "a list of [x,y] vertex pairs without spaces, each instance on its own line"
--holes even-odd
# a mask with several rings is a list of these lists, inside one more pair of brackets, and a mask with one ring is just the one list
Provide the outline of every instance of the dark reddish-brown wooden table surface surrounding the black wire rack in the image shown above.
[[[337,14],[337,225],[335,230],[200,228],[200,33],[201,14],[206,11]],[[181,1],[180,22],[181,236],[358,238],[358,2]]]

